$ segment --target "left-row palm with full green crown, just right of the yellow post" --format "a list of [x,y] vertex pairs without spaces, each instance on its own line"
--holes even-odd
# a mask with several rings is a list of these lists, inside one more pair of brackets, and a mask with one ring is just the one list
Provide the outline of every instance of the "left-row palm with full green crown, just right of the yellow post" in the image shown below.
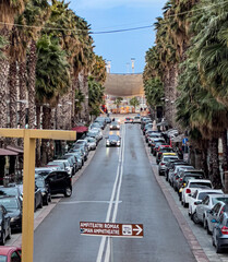
[[[51,35],[43,35],[37,43],[36,100],[43,105],[43,129],[51,129],[51,108],[59,97],[67,94],[70,86],[70,71],[67,55],[59,40]],[[43,162],[51,155],[50,146],[43,143]]]

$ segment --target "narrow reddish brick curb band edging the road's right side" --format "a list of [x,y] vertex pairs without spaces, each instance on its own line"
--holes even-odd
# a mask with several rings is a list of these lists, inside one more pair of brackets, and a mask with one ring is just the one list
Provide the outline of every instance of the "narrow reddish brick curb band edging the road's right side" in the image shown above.
[[166,200],[169,204],[169,207],[171,209],[172,214],[175,215],[175,217],[176,217],[176,219],[179,224],[179,227],[182,230],[183,236],[185,237],[185,239],[187,239],[187,241],[190,246],[190,249],[191,249],[195,260],[197,262],[209,262],[206,253],[204,252],[203,248],[199,243],[199,241],[195,238],[194,234],[192,233],[190,226],[188,225],[184,216],[181,214],[178,205],[176,204],[172,195],[170,194],[169,190],[167,189],[166,183],[163,181],[160,176],[158,176],[157,167],[155,166],[155,164],[153,164],[153,157],[152,157],[152,155],[149,155],[149,152],[146,148],[145,142],[144,142],[144,145],[145,145],[145,151],[146,151],[147,157],[149,159],[152,170],[153,170],[153,174],[156,178],[156,181],[159,184],[159,187],[160,187],[160,189],[161,189],[161,191],[163,191],[163,193],[164,193],[164,195],[165,195],[165,198],[166,198]]

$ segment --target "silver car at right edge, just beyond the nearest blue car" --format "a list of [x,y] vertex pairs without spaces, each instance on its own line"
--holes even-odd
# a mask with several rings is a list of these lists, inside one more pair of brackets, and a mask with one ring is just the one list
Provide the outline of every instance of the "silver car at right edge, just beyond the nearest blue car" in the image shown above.
[[[221,201],[219,201],[219,199]],[[227,201],[227,196],[226,198],[218,198],[216,200],[217,202],[214,203],[214,206],[212,207],[212,210],[208,210],[206,212],[206,230],[207,230],[207,234],[212,234],[213,233],[213,227],[214,227],[214,223],[213,223],[213,219],[215,221],[219,221],[219,217],[220,215],[224,213],[224,212],[227,212],[228,211],[228,201]]]

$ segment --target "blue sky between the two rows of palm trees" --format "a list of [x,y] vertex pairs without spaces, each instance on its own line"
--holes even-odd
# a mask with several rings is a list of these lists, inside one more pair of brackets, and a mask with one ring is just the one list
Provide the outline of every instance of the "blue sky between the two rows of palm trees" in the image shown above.
[[[161,16],[167,0],[71,0],[70,8],[91,24],[92,32],[149,26]],[[153,27],[115,34],[93,34],[95,52],[111,63],[111,73],[142,73],[145,52],[154,45]]]

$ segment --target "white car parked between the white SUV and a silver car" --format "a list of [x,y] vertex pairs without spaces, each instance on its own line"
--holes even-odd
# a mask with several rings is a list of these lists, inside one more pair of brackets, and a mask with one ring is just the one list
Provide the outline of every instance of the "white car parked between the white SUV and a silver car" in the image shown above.
[[[193,194],[191,194],[190,202],[189,202],[189,215],[193,216],[195,214],[196,207],[201,206],[202,201],[204,199],[209,199],[211,195],[215,194],[223,194],[223,191],[220,189],[196,189]],[[208,198],[206,198],[208,196]],[[203,210],[202,207],[197,209]],[[203,218],[203,215],[202,215]]]

